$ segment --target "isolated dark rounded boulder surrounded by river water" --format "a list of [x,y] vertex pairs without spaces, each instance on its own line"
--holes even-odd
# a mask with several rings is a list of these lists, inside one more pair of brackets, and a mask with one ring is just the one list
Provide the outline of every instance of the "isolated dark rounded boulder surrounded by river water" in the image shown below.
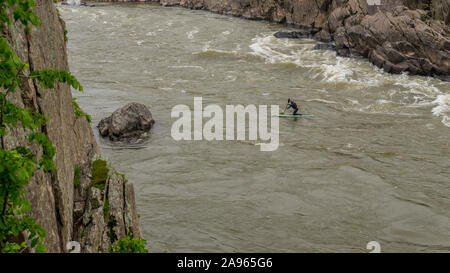
[[140,103],[129,103],[102,119],[97,128],[100,135],[112,141],[135,139],[147,133],[155,121],[150,110]]

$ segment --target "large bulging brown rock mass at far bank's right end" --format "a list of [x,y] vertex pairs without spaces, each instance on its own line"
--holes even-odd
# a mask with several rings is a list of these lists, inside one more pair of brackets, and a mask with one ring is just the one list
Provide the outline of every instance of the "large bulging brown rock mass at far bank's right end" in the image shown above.
[[450,75],[450,28],[423,10],[396,6],[374,15],[351,15],[335,25],[339,55],[369,58],[386,72]]

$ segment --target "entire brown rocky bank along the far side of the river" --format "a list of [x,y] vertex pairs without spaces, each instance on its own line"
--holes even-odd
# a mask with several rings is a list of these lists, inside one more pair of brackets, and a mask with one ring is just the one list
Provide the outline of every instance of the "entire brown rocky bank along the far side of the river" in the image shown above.
[[387,72],[450,76],[450,0],[161,0],[217,13],[307,27]]

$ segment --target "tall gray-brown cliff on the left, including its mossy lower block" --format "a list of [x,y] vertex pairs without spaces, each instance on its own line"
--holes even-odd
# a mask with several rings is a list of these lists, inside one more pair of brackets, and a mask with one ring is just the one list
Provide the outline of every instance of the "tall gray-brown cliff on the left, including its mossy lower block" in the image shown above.
[[[65,24],[53,0],[36,0],[42,25],[25,33],[21,24],[6,28],[1,35],[30,70],[69,70]],[[81,243],[82,252],[106,251],[111,240],[133,233],[140,237],[133,185],[111,168],[103,189],[92,187],[93,160],[100,151],[92,128],[74,112],[70,87],[56,84],[44,90],[31,80],[23,80],[9,99],[49,118],[41,129],[56,147],[56,170],[36,172],[27,187],[32,216],[46,230],[48,252],[65,252],[69,241]],[[1,90],[2,92],[4,90]],[[30,146],[23,128],[6,135],[6,147]],[[37,146],[31,146],[42,154]]]

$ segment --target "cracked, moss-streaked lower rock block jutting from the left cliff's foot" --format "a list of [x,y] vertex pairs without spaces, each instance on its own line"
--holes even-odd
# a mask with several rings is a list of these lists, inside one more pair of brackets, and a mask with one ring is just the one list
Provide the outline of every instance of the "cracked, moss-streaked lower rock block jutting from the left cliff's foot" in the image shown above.
[[133,184],[111,169],[105,189],[82,188],[87,196],[76,191],[82,213],[75,216],[73,239],[81,243],[83,253],[108,252],[109,245],[125,235],[142,238]]

